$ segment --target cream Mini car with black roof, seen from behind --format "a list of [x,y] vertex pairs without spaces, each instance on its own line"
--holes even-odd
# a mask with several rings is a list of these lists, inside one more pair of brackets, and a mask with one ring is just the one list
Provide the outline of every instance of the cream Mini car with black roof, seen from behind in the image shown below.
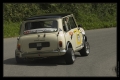
[[88,56],[90,45],[73,14],[33,16],[22,22],[15,50],[17,63],[24,59],[63,56],[67,64],[72,64],[75,52]]

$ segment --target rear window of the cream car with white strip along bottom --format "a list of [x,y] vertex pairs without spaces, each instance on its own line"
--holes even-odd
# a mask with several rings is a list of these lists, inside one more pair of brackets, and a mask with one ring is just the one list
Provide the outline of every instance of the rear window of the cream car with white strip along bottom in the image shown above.
[[53,32],[57,31],[58,23],[56,20],[45,20],[45,21],[34,21],[34,22],[26,22],[25,23],[25,31],[26,30],[38,30],[38,31],[46,31]]

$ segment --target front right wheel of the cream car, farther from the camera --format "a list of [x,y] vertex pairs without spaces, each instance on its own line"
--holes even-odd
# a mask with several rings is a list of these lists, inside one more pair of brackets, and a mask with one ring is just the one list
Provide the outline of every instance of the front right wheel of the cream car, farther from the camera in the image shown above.
[[84,47],[79,51],[81,56],[88,56],[90,53],[90,45],[87,41],[84,42]]

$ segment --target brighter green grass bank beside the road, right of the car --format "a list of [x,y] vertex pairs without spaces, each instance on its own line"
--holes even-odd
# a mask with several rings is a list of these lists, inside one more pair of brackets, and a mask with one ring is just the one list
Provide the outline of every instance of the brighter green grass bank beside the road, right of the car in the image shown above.
[[[116,27],[117,21],[115,17],[110,16],[104,17],[102,20],[96,14],[84,14],[85,12],[79,13],[78,24],[81,24],[85,30],[100,29]],[[107,18],[107,20],[106,20]]]

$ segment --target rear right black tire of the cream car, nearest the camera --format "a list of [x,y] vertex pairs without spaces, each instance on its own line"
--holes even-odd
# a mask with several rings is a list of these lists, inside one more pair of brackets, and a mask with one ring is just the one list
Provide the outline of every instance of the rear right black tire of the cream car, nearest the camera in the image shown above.
[[73,64],[75,61],[75,53],[72,48],[68,48],[66,54],[65,54],[65,61],[66,64]]

